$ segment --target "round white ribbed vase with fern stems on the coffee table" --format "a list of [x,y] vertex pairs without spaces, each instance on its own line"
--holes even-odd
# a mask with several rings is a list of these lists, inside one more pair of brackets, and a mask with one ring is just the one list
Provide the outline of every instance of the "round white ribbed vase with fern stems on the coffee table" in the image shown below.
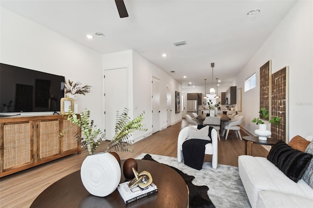
[[[86,147],[89,156],[81,166],[81,179],[85,188],[90,194],[95,196],[107,196],[118,186],[121,178],[121,170],[118,161],[109,153],[114,151],[130,151],[131,141],[129,137],[135,130],[146,131],[143,127],[143,113],[131,120],[128,117],[128,109],[125,108],[122,114],[116,113],[115,135],[103,152],[96,153],[102,141],[105,141],[105,133],[99,127],[93,125],[93,120],[89,120],[90,111],[86,109],[77,116],[73,111],[69,111],[67,120],[81,128],[82,136],[76,134],[77,141]],[[66,133],[66,129],[60,136]]]

